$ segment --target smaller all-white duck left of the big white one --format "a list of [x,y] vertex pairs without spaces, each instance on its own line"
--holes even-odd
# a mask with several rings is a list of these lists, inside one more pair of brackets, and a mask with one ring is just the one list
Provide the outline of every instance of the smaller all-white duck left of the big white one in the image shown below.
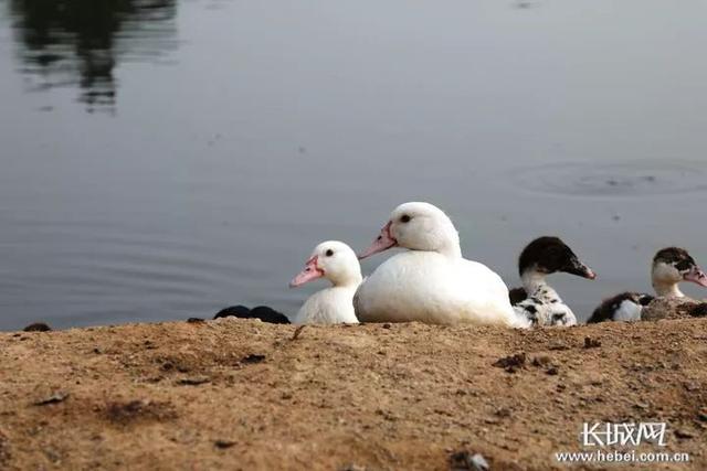
[[333,286],[312,295],[299,308],[293,323],[358,323],[354,312],[354,293],[363,278],[351,247],[338,240],[317,245],[304,270],[289,282],[289,287],[295,288],[317,278],[326,278]]

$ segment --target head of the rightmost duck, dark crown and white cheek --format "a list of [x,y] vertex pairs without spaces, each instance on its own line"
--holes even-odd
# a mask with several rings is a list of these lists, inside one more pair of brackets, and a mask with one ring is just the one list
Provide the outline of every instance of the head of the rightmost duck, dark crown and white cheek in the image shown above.
[[683,297],[677,288],[680,281],[690,281],[707,287],[707,275],[695,263],[695,259],[679,247],[667,247],[658,250],[653,257],[651,269],[653,288],[658,296]]

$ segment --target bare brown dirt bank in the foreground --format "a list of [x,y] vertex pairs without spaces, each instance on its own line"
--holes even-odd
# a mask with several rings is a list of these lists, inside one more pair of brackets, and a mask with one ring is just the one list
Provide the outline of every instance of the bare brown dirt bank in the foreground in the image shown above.
[[692,461],[641,469],[707,470],[706,364],[707,319],[2,333],[0,469],[548,470],[584,421],[666,421]]

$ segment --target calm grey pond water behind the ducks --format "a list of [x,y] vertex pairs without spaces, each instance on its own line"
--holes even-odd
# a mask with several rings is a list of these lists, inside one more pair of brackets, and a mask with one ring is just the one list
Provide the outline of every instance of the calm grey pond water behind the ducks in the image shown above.
[[[0,329],[294,313],[314,245],[428,200],[581,317],[707,265],[707,3],[0,0]],[[383,257],[367,260],[370,271]],[[699,293],[688,289],[690,293]]]

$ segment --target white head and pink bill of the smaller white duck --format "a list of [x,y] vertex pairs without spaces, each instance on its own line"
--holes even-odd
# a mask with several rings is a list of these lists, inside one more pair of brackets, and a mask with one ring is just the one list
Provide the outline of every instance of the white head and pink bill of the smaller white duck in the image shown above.
[[305,285],[317,278],[326,278],[334,286],[361,283],[361,266],[348,245],[327,240],[317,245],[305,263],[305,268],[289,282],[291,288]]

